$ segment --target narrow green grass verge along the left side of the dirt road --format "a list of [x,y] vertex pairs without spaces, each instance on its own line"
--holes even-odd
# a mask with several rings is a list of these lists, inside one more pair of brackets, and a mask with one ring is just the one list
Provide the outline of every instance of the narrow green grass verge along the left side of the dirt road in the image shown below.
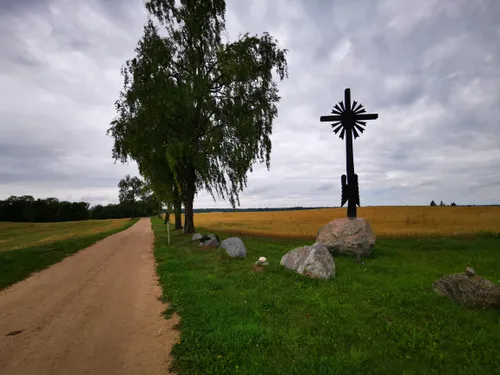
[[[0,251],[0,290],[27,278],[33,272],[41,271],[61,261],[66,256],[74,254],[105,237],[131,227],[137,221],[138,219],[123,221],[118,228],[83,237],[73,237],[22,249]],[[29,229],[26,230],[25,235],[30,237]]]

